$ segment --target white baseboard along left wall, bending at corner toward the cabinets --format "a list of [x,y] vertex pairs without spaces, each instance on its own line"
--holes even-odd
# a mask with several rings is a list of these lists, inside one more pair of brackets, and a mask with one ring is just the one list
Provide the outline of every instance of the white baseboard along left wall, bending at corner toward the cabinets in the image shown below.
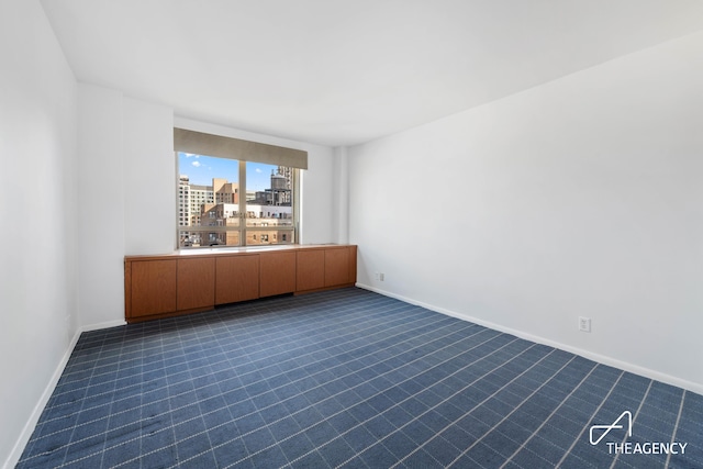
[[22,457],[22,451],[24,451],[24,447],[30,442],[30,438],[32,437],[32,433],[34,432],[34,427],[36,426],[36,423],[40,421],[40,416],[42,416],[42,412],[44,411],[44,407],[48,403],[48,400],[52,397],[52,393],[54,392],[54,389],[56,388],[56,384],[58,384],[58,380],[62,378],[62,375],[64,373],[64,370],[66,369],[66,365],[68,365],[68,359],[70,358],[70,355],[74,353],[74,348],[76,348],[76,344],[78,344],[78,339],[80,338],[80,334],[82,334],[83,332],[97,331],[97,330],[108,328],[108,327],[114,327],[114,326],[120,326],[120,325],[124,325],[124,324],[126,324],[124,322],[124,320],[122,320],[122,321],[109,321],[109,322],[105,322],[105,323],[100,323],[100,324],[93,324],[93,325],[89,325],[89,326],[85,326],[85,327],[79,327],[78,331],[76,331],[76,334],[74,334],[74,337],[71,338],[70,343],[68,344],[68,347],[67,347],[66,351],[64,353],[64,356],[62,357],[62,360],[58,362],[58,366],[56,367],[56,370],[54,370],[54,373],[52,375],[52,378],[49,379],[48,383],[46,384],[46,388],[44,388],[44,392],[42,392],[42,397],[40,398],[38,402],[34,406],[34,410],[32,411],[32,414],[30,415],[30,418],[27,420],[26,424],[22,428],[22,432],[20,433],[20,437],[18,438],[16,443],[14,444],[14,447],[12,448],[12,451],[10,453],[10,456],[8,457],[8,459],[2,465],[3,469],[11,469],[11,468],[15,467],[16,464],[19,462],[20,458]]

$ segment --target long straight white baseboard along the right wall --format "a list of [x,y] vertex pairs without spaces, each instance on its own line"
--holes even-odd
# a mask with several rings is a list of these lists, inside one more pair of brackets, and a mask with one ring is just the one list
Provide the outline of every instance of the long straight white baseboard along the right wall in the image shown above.
[[649,369],[649,368],[640,367],[638,365],[634,365],[634,364],[631,364],[631,362],[627,362],[627,361],[622,361],[622,360],[618,360],[617,358],[613,358],[613,357],[609,357],[609,356],[605,356],[605,355],[595,354],[593,351],[584,350],[582,348],[573,347],[573,346],[570,346],[570,345],[567,345],[567,344],[562,344],[562,343],[559,343],[559,342],[556,342],[556,340],[550,340],[548,338],[535,336],[535,335],[532,335],[532,334],[528,334],[528,333],[525,333],[525,332],[522,332],[522,331],[513,330],[511,327],[505,327],[505,326],[502,326],[500,324],[491,323],[490,321],[483,321],[483,320],[480,320],[478,317],[470,316],[468,314],[461,314],[461,313],[457,313],[456,311],[450,311],[450,310],[446,310],[446,309],[443,309],[443,308],[437,308],[437,306],[435,306],[433,304],[423,303],[422,301],[416,301],[416,300],[414,300],[412,298],[406,298],[406,297],[403,297],[403,295],[400,295],[400,294],[391,293],[389,291],[381,290],[381,289],[378,289],[378,288],[375,288],[375,287],[371,287],[371,286],[367,286],[367,284],[364,284],[364,283],[357,283],[356,286],[358,288],[364,289],[364,290],[373,291],[373,292],[382,294],[384,297],[394,298],[397,300],[401,300],[401,301],[404,301],[404,302],[410,303],[410,304],[415,304],[417,306],[426,308],[427,310],[431,310],[431,311],[434,311],[434,312],[437,312],[437,313],[446,314],[447,316],[456,317],[456,319],[459,319],[459,320],[462,320],[462,321],[468,321],[468,322],[471,322],[471,323],[475,323],[475,324],[478,324],[478,325],[481,325],[481,326],[484,326],[484,327],[489,327],[489,328],[492,328],[492,330],[495,330],[495,331],[500,331],[500,332],[505,333],[505,334],[512,334],[512,335],[514,335],[516,337],[524,338],[525,340],[531,340],[531,342],[534,342],[534,343],[537,343],[537,344],[547,345],[549,347],[558,348],[558,349],[565,350],[565,351],[569,351],[571,354],[579,355],[579,356],[581,356],[583,358],[588,358],[589,360],[593,360],[593,361],[596,361],[596,362],[602,364],[602,365],[607,365],[607,366],[611,366],[611,367],[614,367],[614,368],[617,368],[617,369],[621,369],[621,370],[625,370],[625,371],[629,371],[629,372],[635,373],[635,375],[643,376],[645,378],[649,378],[649,379],[654,379],[656,381],[660,381],[660,382],[663,382],[663,383],[667,383],[667,384],[676,386],[678,388],[682,388],[682,389],[685,389],[688,391],[695,392],[698,394],[703,394],[703,384],[701,384],[701,383],[688,381],[688,380],[684,380],[684,379],[681,379],[681,378],[677,378],[674,376],[662,373],[660,371],[656,371],[656,370],[652,370],[652,369]]

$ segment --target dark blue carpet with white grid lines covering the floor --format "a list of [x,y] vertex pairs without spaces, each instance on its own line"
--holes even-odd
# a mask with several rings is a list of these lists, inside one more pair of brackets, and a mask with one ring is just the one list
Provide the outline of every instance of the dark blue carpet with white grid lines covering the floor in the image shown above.
[[703,397],[353,288],[82,334],[18,467],[703,468]]

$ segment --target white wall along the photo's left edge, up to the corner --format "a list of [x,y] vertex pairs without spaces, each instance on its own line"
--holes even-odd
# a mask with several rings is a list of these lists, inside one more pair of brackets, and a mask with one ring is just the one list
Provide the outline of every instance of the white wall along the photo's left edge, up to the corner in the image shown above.
[[0,2],[0,464],[11,466],[77,330],[76,80],[37,1]]

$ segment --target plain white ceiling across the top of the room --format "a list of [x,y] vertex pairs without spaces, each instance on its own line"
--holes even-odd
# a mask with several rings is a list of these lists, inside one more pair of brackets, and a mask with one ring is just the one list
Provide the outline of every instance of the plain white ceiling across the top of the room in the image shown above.
[[82,82],[324,145],[703,30],[700,0],[42,0]]

